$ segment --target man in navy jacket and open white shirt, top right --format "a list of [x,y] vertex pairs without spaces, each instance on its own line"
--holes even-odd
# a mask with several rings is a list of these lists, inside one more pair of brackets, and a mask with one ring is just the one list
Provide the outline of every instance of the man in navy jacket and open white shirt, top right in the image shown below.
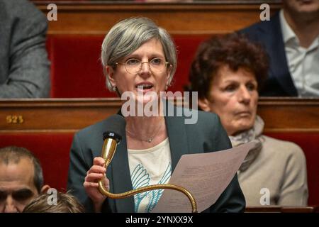
[[319,0],[283,0],[270,21],[240,32],[262,43],[270,57],[261,96],[319,96]]

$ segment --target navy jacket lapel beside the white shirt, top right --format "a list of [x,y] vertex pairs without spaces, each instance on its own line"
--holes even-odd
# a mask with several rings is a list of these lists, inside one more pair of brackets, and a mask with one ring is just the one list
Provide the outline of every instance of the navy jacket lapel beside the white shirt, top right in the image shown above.
[[279,84],[281,84],[281,87],[287,94],[290,94],[291,96],[297,96],[298,92],[293,84],[286,59],[286,51],[281,33],[279,13],[276,13],[276,15],[272,17],[272,20],[268,23],[265,22],[265,24],[267,24],[267,26],[259,28],[260,31],[262,31],[260,38],[266,45],[266,49],[269,54],[269,60],[272,65],[270,68],[270,74],[273,77],[276,77]]

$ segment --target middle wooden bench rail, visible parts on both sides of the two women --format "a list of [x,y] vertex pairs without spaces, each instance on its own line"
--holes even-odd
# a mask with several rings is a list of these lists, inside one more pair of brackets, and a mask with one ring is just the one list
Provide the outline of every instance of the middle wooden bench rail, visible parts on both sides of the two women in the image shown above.
[[[0,132],[74,132],[119,109],[120,99],[0,100]],[[265,133],[319,132],[319,99],[261,98],[258,114]]]

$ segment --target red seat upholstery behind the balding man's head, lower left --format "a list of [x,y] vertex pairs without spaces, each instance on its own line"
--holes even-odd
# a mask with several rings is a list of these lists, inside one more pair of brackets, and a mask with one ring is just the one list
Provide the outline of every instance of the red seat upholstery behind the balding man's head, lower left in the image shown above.
[[73,133],[0,133],[0,148],[30,150],[41,162],[45,184],[65,192]]

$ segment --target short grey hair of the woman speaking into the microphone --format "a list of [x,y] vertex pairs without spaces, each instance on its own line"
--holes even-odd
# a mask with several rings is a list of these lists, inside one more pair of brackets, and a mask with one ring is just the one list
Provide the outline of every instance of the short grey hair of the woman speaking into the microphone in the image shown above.
[[152,38],[156,38],[162,43],[165,58],[172,65],[168,81],[169,84],[172,82],[177,68],[177,52],[169,33],[164,28],[157,26],[149,18],[127,18],[116,23],[102,43],[101,61],[103,72],[106,76],[106,86],[110,91],[112,91],[112,85],[105,70],[106,65],[113,67],[115,70],[115,62],[130,55],[130,53],[140,48],[143,43]]

